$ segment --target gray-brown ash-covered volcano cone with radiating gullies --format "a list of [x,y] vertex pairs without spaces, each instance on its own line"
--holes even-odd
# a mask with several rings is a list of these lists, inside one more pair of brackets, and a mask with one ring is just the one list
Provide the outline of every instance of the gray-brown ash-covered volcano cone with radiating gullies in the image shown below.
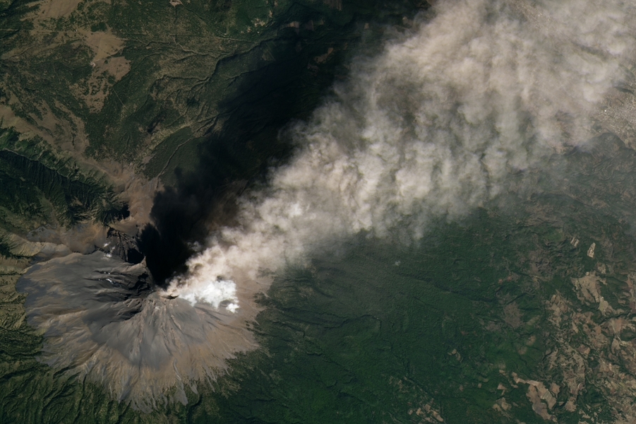
[[178,400],[184,385],[214,380],[236,352],[253,348],[241,315],[222,305],[169,298],[145,264],[103,252],[35,264],[20,278],[28,323],[42,331],[41,360],[115,399],[149,411]]

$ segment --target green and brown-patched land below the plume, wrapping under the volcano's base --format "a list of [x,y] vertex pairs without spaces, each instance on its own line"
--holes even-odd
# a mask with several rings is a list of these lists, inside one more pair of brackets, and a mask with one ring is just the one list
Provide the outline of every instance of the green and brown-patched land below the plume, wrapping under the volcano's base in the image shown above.
[[[565,168],[585,175],[616,160],[611,187],[629,182],[620,169],[633,153],[611,136],[597,146],[572,153]],[[200,384],[185,407],[131,411],[35,362],[37,336],[6,326],[1,420],[579,423],[584,413],[611,423],[628,413],[636,379],[633,221],[593,206],[615,196],[610,187],[588,192],[578,176],[568,194],[544,176],[538,194],[503,199],[514,213],[488,206],[438,223],[412,247],[360,236],[287,270],[261,300],[262,348],[232,360],[212,387]],[[622,187],[623,199],[634,187]]]

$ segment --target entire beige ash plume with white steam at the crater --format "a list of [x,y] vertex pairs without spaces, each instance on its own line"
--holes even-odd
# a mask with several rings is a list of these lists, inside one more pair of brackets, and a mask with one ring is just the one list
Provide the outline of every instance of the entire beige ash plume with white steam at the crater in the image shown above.
[[[290,131],[299,151],[240,201],[169,293],[218,305],[359,232],[417,239],[433,217],[493,199],[510,172],[589,138],[589,116],[632,58],[625,1],[450,0]],[[229,293],[229,292],[228,292]],[[234,292],[232,292],[234,293]],[[242,298],[242,296],[241,296]]]

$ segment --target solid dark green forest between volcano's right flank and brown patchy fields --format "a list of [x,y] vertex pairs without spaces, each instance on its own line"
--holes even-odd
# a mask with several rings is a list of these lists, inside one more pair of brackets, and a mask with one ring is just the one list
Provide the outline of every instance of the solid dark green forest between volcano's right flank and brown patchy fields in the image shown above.
[[[547,200],[534,199],[549,207]],[[546,303],[557,292],[578,303],[570,278],[594,264],[565,233],[589,228],[534,219],[483,211],[419,249],[360,242],[342,258],[290,272],[265,300],[258,365],[248,355],[239,361],[244,371],[234,367],[241,389],[222,402],[224,420],[417,423],[435,411],[448,423],[544,422],[514,372],[559,384],[550,413],[578,423],[564,406],[563,370],[548,368],[563,342]],[[620,228],[608,221],[606,229]],[[635,240],[616,242],[633,249]],[[628,271],[627,264],[613,270],[616,278]],[[603,320],[598,311],[596,319]],[[589,378],[580,408],[611,417],[611,393]],[[493,408],[500,399],[510,411]]]

